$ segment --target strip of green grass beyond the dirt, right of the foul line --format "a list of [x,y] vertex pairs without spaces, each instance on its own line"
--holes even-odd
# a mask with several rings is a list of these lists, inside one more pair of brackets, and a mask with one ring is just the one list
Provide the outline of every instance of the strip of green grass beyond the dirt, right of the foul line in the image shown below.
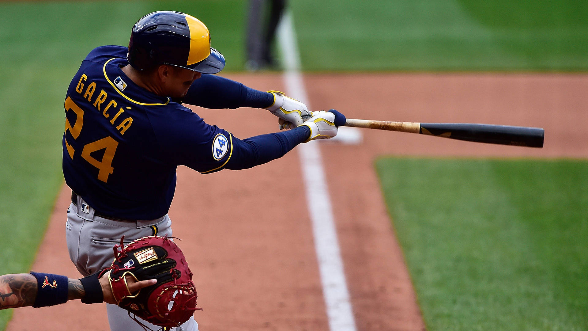
[[582,0],[292,0],[312,71],[586,71]]

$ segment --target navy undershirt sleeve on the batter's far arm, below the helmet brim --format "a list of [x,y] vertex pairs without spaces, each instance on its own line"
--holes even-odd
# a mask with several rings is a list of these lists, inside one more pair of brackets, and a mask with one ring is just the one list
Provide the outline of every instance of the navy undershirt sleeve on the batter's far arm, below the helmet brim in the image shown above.
[[181,102],[213,109],[266,108],[272,105],[273,95],[228,78],[202,74],[201,78],[192,82],[188,94]]

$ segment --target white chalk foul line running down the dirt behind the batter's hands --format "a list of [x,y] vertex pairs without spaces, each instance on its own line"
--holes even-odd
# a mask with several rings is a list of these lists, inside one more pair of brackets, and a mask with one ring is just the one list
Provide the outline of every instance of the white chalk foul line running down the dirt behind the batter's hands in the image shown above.
[[[300,74],[298,46],[289,11],[284,13],[280,22],[278,38],[285,67],[283,77],[286,91],[298,100],[305,102],[310,108]],[[304,177],[306,201],[312,220],[329,329],[331,331],[356,331],[318,142],[310,141],[306,144],[300,144],[297,149]]]

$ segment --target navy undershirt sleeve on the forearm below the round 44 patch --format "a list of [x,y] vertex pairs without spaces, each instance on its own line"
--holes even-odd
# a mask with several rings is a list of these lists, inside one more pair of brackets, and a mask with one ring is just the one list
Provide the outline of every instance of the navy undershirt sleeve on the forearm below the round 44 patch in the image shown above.
[[240,170],[259,166],[288,153],[310,136],[306,125],[279,133],[256,135],[239,140],[233,137],[233,156],[224,168]]

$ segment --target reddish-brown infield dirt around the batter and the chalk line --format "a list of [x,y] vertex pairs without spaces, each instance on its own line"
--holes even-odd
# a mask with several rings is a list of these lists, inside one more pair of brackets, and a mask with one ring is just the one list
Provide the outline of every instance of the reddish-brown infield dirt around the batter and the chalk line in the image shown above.
[[[280,75],[232,75],[259,90]],[[350,118],[544,127],[542,149],[363,130],[358,145],[321,144],[353,313],[360,331],[422,330],[373,162],[379,155],[588,157],[588,75],[306,75],[315,110]],[[200,110],[236,137],[274,131],[263,110]],[[255,118],[255,121],[252,120]],[[201,330],[328,330],[312,229],[296,152],[264,166],[203,176],[185,167],[170,216],[195,272]],[[78,274],[65,244],[66,187],[33,270]],[[295,208],[285,207],[296,201]],[[108,330],[104,305],[71,302],[15,309],[7,330]]]

